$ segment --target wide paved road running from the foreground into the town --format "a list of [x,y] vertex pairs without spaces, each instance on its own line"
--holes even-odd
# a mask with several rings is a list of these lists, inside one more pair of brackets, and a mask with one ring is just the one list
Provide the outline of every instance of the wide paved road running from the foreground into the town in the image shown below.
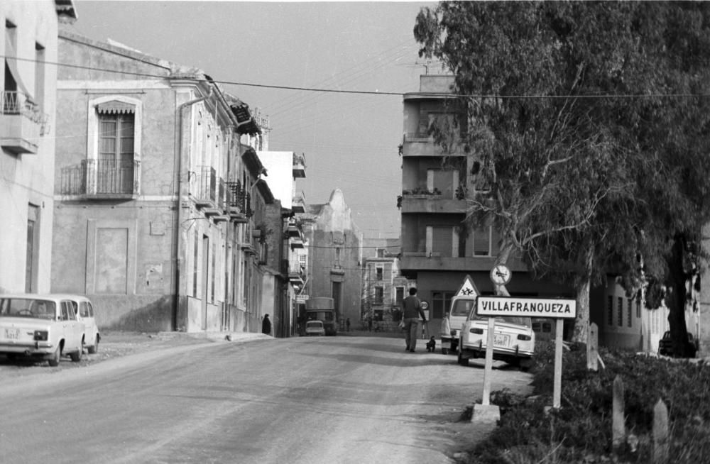
[[[452,463],[482,363],[338,336],[178,346],[0,384],[0,462]],[[493,370],[493,390],[530,375]]]

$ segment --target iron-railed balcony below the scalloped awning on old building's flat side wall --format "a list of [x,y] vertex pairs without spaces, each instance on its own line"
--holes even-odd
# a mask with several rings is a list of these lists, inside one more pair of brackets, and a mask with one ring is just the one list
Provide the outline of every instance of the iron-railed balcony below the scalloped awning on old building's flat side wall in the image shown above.
[[63,167],[60,194],[94,199],[138,197],[138,168],[135,160],[83,160],[78,166]]

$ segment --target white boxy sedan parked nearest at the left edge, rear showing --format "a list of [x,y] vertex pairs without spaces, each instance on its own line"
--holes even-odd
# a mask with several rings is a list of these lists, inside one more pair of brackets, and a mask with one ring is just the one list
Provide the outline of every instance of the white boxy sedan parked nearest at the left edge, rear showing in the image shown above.
[[62,355],[82,359],[84,323],[66,296],[0,294],[0,354],[59,365]]

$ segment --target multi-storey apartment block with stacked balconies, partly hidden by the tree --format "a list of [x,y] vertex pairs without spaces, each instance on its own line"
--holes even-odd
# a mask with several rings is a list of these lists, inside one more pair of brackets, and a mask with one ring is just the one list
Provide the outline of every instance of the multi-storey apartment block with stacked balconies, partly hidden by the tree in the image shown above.
[[[416,280],[418,296],[429,303],[432,326],[440,321],[452,296],[470,275],[484,294],[493,294],[489,273],[498,254],[498,233],[490,226],[466,225],[466,195],[476,185],[473,155],[460,139],[465,115],[451,95],[453,77],[422,75],[420,91],[404,96],[402,154],[401,272]],[[433,123],[454,126],[447,150],[430,134]],[[508,260],[513,280],[507,285],[520,296],[561,296],[569,289],[533,281],[524,263]]]

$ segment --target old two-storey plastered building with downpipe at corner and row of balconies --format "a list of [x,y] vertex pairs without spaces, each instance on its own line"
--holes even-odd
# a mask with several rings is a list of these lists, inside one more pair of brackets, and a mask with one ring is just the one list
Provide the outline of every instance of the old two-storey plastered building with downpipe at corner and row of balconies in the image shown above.
[[200,70],[69,31],[58,62],[52,290],[87,294],[105,328],[261,330],[273,195],[249,106]]

